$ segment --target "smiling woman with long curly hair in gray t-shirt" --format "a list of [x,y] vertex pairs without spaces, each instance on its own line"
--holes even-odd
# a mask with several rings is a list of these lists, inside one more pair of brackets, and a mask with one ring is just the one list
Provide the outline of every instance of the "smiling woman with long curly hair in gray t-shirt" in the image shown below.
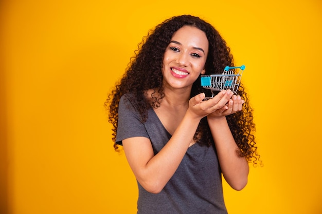
[[138,182],[137,213],[227,213],[221,174],[241,190],[258,154],[241,86],[204,101],[202,74],[234,66],[230,49],[199,17],[175,16],[144,38],[105,102],[114,147]]

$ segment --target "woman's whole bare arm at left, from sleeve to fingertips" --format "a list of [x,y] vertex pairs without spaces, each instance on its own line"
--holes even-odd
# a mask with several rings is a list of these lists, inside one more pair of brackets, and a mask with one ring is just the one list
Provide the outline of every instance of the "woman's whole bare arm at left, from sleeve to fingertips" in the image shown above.
[[189,108],[180,125],[156,155],[148,138],[135,137],[122,141],[129,165],[142,187],[153,193],[164,188],[180,165],[200,120],[214,110],[221,109],[229,98],[223,91],[211,102],[202,102],[204,94],[190,99]]

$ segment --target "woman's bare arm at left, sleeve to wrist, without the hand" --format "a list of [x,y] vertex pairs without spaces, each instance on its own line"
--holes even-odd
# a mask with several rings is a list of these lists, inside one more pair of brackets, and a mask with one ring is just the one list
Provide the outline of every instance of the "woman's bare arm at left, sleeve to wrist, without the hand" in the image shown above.
[[139,149],[131,148],[134,145],[131,142],[124,147],[138,182],[147,191],[158,193],[168,183],[192,142],[199,122],[200,118],[187,111],[169,142],[156,155],[152,148],[148,148],[150,142],[142,144]]

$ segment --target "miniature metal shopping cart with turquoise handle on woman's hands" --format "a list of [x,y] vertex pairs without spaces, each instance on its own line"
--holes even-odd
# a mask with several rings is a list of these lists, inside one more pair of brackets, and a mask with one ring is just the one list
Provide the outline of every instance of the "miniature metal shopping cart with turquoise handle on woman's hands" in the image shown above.
[[[244,65],[240,67],[226,66],[222,74],[201,75],[201,86],[211,90],[212,94],[211,97],[206,97],[205,99],[208,100],[213,98],[214,91],[230,89],[232,92],[237,94],[244,69]],[[237,70],[239,70],[238,73],[236,72]]]

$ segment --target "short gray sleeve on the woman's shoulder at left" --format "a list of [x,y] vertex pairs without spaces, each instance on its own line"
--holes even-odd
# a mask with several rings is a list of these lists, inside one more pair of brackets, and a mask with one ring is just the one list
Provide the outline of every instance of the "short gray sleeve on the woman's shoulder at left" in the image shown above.
[[116,143],[122,145],[122,140],[133,137],[149,138],[141,115],[130,101],[131,96],[124,94],[118,105],[118,125]]

